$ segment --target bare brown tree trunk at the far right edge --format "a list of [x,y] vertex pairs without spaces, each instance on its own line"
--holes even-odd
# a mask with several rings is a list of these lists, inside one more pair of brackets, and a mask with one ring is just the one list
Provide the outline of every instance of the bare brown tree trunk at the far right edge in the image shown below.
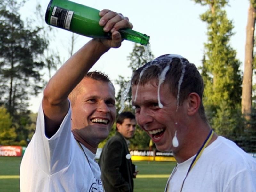
[[252,112],[252,69],[253,69],[253,46],[254,46],[255,8],[250,4],[246,27],[246,44],[244,60],[244,77],[242,88],[242,114],[247,120]]

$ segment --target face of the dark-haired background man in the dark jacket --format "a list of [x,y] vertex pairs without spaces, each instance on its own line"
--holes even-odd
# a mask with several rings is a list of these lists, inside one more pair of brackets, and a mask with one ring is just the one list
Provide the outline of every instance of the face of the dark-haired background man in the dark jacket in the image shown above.
[[136,120],[125,118],[123,123],[116,123],[117,131],[121,133],[126,139],[130,139],[133,137],[135,128],[136,128]]

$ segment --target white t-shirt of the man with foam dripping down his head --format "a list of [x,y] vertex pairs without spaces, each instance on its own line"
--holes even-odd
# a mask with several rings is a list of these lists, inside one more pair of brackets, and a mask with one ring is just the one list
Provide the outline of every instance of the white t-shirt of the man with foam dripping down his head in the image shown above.
[[[180,192],[194,157],[177,164],[168,180],[168,192]],[[219,136],[204,149],[188,173],[182,192],[191,191],[256,192],[256,160],[231,140]]]

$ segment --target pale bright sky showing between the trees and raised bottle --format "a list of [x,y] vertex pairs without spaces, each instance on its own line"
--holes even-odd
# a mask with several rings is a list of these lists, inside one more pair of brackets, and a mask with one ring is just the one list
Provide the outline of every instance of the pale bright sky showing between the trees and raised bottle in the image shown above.
[[[206,24],[199,15],[206,7],[195,4],[191,0],[73,0],[96,9],[110,9],[127,16],[133,24],[133,29],[150,36],[151,51],[158,57],[162,54],[179,54],[187,58],[196,66],[201,65],[204,42],[206,42]],[[40,2],[43,10],[46,10],[49,1],[28,0],[20,10],[22,19],[33,17],[36,2]],[[235,33],[231,38],[231,46],[237,51],[237,58],[244,62],[245,30],[247,23],[247,10],[249,0],[230,0],[226,7],[228,19],[233,20]],[[71,33],[63,29],[56,30],[56,40],[51,43],[52,49],[58,49],[61,60],[68,59],[68,49],[71,42]],[[76,39],[75,50],[78,50],[89,38],[79,36]],[[124,41],[121,48],[112,49],[103,55],[91,70],[100,70],[109,75],[111,80],[118,75],[131,76],[128,68],[127,56],[132,52],[134,43]],[[59,66],[60,67],[60,66]],[[243,66],[241,70],[243,71]],[[46,79],[48,81],[48,79]],[[118,87],[116,87],[118,89]],[[30,110],[37,112],[42,94],[31,100]]]

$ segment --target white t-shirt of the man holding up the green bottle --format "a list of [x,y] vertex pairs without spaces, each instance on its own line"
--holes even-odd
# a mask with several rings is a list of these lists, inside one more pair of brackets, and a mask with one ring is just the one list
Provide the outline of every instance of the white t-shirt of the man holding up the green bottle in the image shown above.
[[45,136],[41,105],[36,132],[20,165],[20,191],[103,191],[95,155],[83,145],[82,147],[90,164],[71,132],[70,108],[55,135],[50,139]]

